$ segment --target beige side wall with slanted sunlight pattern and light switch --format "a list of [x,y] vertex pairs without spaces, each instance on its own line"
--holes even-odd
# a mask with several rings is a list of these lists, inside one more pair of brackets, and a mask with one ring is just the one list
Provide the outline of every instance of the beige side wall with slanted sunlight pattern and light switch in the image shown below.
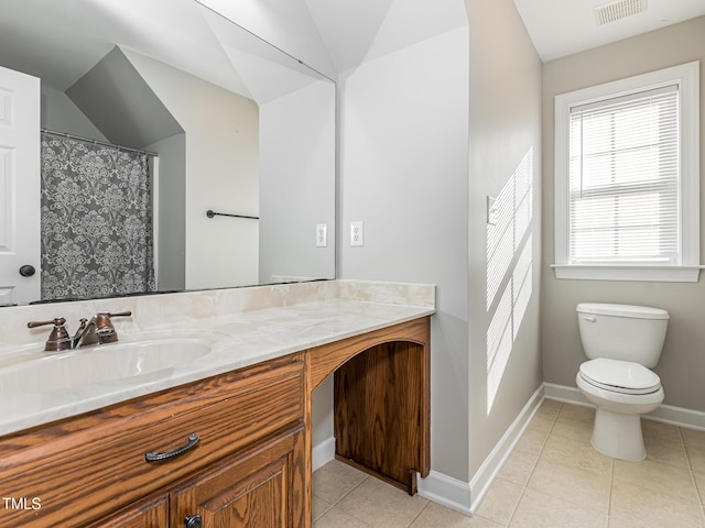
[[[542,383],[541,61],[512,0],[466,0],[466,7],[470,30],[469,462],[474,475]],[[512,183],[517,196],[523,196],[525,172],[532,180],[532,207],[509,208],[508,226],[501,227],[509,237],[509,251],[501,257],[501,251],[488,251],[492,233],[486,223],[486,196],[507,196]]]

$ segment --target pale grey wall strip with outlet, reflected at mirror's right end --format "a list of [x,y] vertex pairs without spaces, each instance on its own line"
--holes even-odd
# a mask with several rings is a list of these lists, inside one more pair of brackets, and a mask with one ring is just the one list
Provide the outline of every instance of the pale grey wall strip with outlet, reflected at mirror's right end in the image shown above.
[[[316,80],[261,106],[260,158],[260,283],[335,278],[333,82]],[[325,248],[315,244],[318,223],[328,227]]]

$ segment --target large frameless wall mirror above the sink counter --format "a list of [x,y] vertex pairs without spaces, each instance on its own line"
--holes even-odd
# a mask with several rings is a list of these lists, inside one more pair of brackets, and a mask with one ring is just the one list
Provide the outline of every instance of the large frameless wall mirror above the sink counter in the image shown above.
[[[42,185],[64,186],[43,187],[44,198],[63,196],[68,186],[65,175],[46,168],[47,157],[54,167],[68,151],[96,163],[132,150],[150,153],[152,209],[142,216],[152,219],[156,290],[335,278],[333,80],[195,0],[6,1],[0,66],[41,79]],[[67,147],[67,140],[76,143]],[[122,150],[106,154],[107,144]],[[90,186],[82,182],[72,184],[73,209],[89,200]],[[59,207],[42,201],[42,218],[55,220],[53,232],[40,237],[42,251],[59,227],[62,233],[78,228],[85,240],[98,230],[100,213],[124,213],[119,200],[101,196],[84,208],[89,221],[73,213],[58,221]],[[25,204],[20,199],[18,209]],[[20,238],[31,229],[15,226]],[[99,266],[74,263],[64,274],[83,266],[95,284],[128,275],[119,267],[105,272],[118,260],[106,256],[115,248],[106,237],[93,242],[104,244],[94,257]],[[56,283],[53,299],[106,296],[100,287],[62,295],[58,279],[47,276],[51,266],[21,262],[36,268],[23,276],[2,254],[0,304],[40,300],[41,294],[22,298],[15,288],[40,278]]]

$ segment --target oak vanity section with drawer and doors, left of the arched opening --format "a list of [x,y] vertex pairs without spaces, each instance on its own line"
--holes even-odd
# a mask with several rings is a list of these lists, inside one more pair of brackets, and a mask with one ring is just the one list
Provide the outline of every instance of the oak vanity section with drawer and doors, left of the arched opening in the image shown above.
[[[200,515],[204,528],[303,527],[304,388],[293,354],[2,437],[3,495],[41,508],[2,510],[0,524],[181,528]],[[145,461],[192,433],[192,449]]]

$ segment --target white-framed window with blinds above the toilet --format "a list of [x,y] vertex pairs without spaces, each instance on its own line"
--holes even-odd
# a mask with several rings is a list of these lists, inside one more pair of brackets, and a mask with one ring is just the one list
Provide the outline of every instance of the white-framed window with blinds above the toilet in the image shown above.
[[697,280],[698,69],[556,97],[556,277]]

